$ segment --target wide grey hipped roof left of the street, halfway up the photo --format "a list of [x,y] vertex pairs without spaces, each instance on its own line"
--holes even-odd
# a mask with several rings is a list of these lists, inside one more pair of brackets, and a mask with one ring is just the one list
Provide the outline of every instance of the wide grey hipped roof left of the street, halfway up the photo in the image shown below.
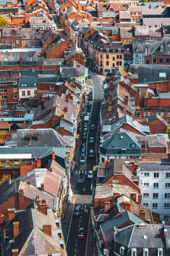
[[[31,133],[31,141],[29,141]],[[38,139],[39,136],[39,140]],[[25,129],[17,130],[17,147],[23,145],[31,147],[69,147],[72,141],[68,140],[54,129]],[[45,146],[46,145],[46,146]]]

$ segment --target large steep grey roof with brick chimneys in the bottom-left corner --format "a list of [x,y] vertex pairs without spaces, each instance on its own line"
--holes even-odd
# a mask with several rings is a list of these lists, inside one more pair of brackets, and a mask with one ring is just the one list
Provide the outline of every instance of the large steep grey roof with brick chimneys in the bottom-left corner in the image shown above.
[[[19,222],[20,234],[15,238],[15,242],[9,248],[9,241],[13,239],[13,222]],[[50,223],[52,225],[52,236],[48,236],[43,232],[43,225]],[[57,226],[52,211],[48,211],[48,215],[39,212],[37,209],[27,209],[15,213],[15,218],[7,221],[1,226],[1,232],[4,234],[4,229],[10,229],[10,237],[4,239],[3,237],[3,255],[12,256],[12,250],[18,249],[21,256],[47,255],[48,252],[52,254],[63,253],[59,244],[59,235],[57,234]],[[62,254],[62,255],[65,255]]]

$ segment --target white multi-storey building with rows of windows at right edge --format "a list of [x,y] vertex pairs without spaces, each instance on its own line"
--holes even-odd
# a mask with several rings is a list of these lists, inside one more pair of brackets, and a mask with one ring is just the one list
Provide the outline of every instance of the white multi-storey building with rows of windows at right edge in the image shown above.
[[142,182],[143,205],[166,220],[170,216],[170,163],[139,163],[136,173]]

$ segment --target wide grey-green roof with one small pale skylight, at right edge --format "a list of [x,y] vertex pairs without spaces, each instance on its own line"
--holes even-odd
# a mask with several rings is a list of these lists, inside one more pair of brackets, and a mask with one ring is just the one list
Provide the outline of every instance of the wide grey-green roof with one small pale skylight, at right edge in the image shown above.
[[[153,83],[159,81],[168,81],[170,77],[169,65],[130,65],[131,73],[138,73],[138,83]],[[160,73],[166,73],[165,77],[160,77]],[[146,80],[145,80],[146,79]]]

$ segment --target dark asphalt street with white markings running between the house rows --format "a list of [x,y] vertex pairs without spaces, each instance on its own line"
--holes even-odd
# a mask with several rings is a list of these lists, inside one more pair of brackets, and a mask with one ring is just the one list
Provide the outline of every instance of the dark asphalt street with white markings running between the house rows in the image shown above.
[[[87,141],[82,141],[82,143],[87,142],[87,161],[84,164],[84,169],[81,170],[81,173],[86,173],[83,178],[80,179],[78,177],[79,171],[74,173],[77,175],[76,186],[74,188],[74,199],[75,205],[80,205],[81,207],[81,214],[80,217],[71,218],[71,225],[69,228],[69,234],[67,237],[67,255],[68,256],[85,256],[90,255],[89,247],[91,246],[90,241],[88,240],[89,237],[89,220],[90,220],[90,206],[92,202],[92,191],[91,191],[91,182],[92,180],[87,179],[87,171],[93,170],[93,166],[96,165],[96,138],[97,138],[97,128],[99,125],[99,115],[100,115],[100,108],[101,108],[101,100],[103,97],[103,80],[99,78],[99,76],[93,75],[92,79],[87,79],[87,84],[92,86],[94,89],[94,102],[93,104],[89,105],[89,109],[92,110],[92,115],[90,118],[90,125],[95,124],[95,120],[97,120],[96,129],[95,131],[90,131],[87,136]],[[94,144],[89,144],[89,138],[94,137]],[[95,152],[94,159],[89,159],[89,151],[93,149]],[[85,195],[82,195],[82,189],[85,187]],[[78,240],[78,228],[83,227],[85,228],[85,240]],[[87,246],[88,244],[88,246]],[[88,252],[87,252],[88,251]],[[92,250],[91,250],[92,252]]]

